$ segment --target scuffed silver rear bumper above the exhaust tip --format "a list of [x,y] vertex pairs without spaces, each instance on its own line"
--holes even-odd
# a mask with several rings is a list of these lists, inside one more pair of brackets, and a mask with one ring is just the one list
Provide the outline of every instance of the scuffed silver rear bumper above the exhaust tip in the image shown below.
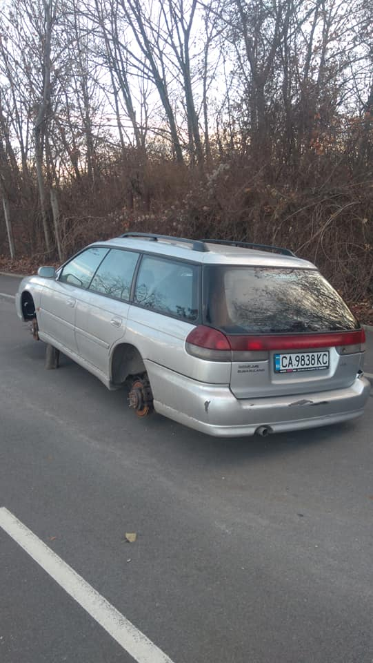
[[370,394],[370,383],[359,376],[344,389],[239,400],[228,385],[197,382],[151,361],[145,364],[156,412],[221,437],[252,435],[260,426],[284,432],[354,419],[363,414]]

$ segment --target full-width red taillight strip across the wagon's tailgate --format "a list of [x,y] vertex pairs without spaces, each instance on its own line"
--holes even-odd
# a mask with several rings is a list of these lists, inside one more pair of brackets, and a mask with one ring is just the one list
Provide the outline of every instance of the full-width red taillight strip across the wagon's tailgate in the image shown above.
[[188,354],[208,361],[265,361],[270,350],[307,350],[335,347],[339,354],[363,352],[364,329],[325,334],[226,336],[219,329],[199,325],[185,340]]

